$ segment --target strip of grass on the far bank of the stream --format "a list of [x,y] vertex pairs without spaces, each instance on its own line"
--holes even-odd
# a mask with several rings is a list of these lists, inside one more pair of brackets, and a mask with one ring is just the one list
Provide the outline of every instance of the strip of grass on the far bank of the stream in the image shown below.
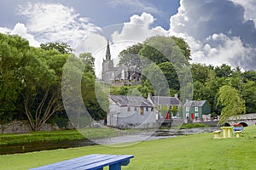
[[23,134],[0,134],[0,145],[21,144],[31,142],[59,142],[77,139],[99,139],[116,136],[118,132],[111,128],[84,128],[77,130],[62,130],[53,132],[34,132]]

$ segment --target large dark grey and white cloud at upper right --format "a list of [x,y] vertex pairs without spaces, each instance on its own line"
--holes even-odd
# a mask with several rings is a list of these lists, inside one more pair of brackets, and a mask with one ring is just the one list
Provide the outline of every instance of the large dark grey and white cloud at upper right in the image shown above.
[[244,11],[241,4],[228,0],[181,0],[171,17],[170,33],[189,43],[192,62],[255,70],[256,28]]

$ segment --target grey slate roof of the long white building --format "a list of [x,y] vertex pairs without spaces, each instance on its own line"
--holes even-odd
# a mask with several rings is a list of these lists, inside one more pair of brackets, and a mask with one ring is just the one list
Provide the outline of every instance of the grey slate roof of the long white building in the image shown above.
[[109,95],[119,106],[154,107],[147,99],[140,96]]

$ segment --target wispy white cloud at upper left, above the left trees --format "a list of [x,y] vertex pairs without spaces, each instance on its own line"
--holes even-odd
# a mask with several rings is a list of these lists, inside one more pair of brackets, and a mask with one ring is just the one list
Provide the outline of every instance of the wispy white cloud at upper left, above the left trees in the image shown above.
[[20,5],[19,14],[27,18],[27,30],[40,42],[67,42],[75,47],[90,33],[101,31],[74,8],[61,3],[26,3]]

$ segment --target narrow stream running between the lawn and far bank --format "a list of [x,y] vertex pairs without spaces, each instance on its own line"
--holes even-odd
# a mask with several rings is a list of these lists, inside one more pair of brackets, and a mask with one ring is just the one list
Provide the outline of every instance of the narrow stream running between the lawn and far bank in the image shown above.
[[[56,150],[67,149],[82,146],[91,146],[97,144],[122,144],[131,145],[131,143],[138,143],[146,140],[153,139],[166,139],[174,138],[178,135],[188,135],[195,133],[211,133],[216,130],[217,127],[196,127],[189,129],[160,129],[157,131],[147,131],[143,133],[130,133],[117,137],[107,139],[94,139],[90,141],[88,139],[61,141],[61,142],[34,142],[26,144],[11,144],[0,146],[0,155],[26,153],[39,150]],[[127,143],[127,144],[126,144]]]

